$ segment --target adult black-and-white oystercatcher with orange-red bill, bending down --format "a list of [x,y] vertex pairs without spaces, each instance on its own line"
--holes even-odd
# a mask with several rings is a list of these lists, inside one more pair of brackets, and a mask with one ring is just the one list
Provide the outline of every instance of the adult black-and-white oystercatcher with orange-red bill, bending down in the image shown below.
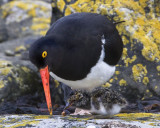
[[72,89],[92,90],[111,78],[122,50],[122,39],[105,16],[74,13],[57,20],[29,50],[40,70],[50,114],[49,74]]

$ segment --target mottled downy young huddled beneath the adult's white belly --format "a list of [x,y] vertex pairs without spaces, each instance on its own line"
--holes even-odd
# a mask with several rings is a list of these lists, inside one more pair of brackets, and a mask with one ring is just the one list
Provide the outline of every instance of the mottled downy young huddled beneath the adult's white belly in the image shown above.
[[[82,110],[82,112],[88,114],[112,116],[118,114],[122,108],[126,107],[127,101],[118,92],[100,87],[91,92],[76,90],[68,99],[68,106],[87,110]],[[78,112],[78,114],[82,112]]]

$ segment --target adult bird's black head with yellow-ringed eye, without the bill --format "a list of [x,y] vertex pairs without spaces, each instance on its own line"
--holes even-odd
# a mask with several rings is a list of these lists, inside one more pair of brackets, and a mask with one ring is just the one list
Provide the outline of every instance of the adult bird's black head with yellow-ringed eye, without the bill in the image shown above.
[[35,41],[29,49],[30,61],[37,66],[38,69],[48,66],[49,68],[58,67],[61,53],[54,38],[42,37]]

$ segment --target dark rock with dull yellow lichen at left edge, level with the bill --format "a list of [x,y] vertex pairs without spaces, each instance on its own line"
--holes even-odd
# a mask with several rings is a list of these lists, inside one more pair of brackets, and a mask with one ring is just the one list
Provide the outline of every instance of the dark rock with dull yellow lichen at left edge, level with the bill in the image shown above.
[[35,93],[39,86],[38,79],[36,72],[30,68],[0,60],[0,102]]

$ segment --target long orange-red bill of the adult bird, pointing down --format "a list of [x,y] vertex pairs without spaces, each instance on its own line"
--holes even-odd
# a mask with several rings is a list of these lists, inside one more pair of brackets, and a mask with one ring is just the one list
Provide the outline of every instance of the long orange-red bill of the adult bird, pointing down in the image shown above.
[[52,102],[51,102],[51,95],[50,95],[50,87],[49,87],[49,71],[48,66],[43,69],[40,69],[41,79],[43,83],[43,88],[46,96],[46,102],[48,106],[48,111],[50,115],[52,115]]

